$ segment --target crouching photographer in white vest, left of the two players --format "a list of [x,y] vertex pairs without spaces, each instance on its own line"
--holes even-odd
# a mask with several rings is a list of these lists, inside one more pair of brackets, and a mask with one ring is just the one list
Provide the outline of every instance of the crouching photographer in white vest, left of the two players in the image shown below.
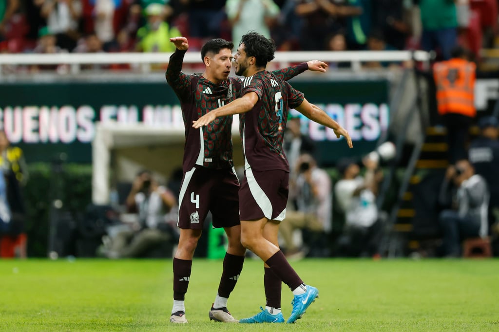
[[174,241],[175,230],[171,224],[174,221],[167,218],[177,200],[169,189],[157,184],[150,171],[137,174],[126,204],[129,212],[137,213],[138,223],[112,236],[111,243],[107,244],[107,257],[139,257],[158,244]]

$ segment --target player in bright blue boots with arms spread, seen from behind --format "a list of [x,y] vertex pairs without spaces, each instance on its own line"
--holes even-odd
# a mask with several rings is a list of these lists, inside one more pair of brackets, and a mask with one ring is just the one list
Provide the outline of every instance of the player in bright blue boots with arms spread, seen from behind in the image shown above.
[[[303,93],[265,70],[274,58],[275,43],[250,32],[240,42],[236,75],[243,75],[241,97],[196,121],[193,128],[211,127],[221,119],[240,114],[240,133],[245,158],[245,177],[239,190],[241,241],[265,263],[265,309],[240,323],[283,323],[280,310],[281,281],[293,292],[292,312],[287,323],[300,319],[319,295],[306,285],[287,262],[277,242],[279,223],[285,218],[289,165],[282,150],[289,108],[294,108],[321,125],[343,136],[349,148],[348,132],[319,107],[309,103]],[[285,222],[285,221],[284,221]]]

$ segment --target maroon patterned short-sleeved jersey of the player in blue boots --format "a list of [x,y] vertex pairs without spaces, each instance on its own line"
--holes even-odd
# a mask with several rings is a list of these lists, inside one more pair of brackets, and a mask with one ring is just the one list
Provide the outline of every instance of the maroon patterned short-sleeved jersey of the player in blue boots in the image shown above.
[[299,106],[303,93],[268,71],[243,80],[241,95],[255,92],[258,102],[240,115],[240,133],[246,164],[257,171],[282,169],[289,164],[282,150],[289,108]]

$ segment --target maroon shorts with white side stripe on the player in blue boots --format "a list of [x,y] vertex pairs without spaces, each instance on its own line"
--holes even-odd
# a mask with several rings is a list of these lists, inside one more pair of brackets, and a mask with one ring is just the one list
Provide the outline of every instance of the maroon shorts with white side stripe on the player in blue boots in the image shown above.
[[245,170],[239,190],[241,220],[263,217],[282,221],[286,217],[289,173],[284,170]]

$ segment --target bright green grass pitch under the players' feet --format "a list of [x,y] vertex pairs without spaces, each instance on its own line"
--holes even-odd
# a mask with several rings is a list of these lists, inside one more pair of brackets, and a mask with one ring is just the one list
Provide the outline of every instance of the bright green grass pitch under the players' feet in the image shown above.
[[[187,325],[169,323],[171,260],[0,261],[0,331],[499,331],[499,261],[302,260],[320,298],[288,324],[210,322],[222,261],[195,259]],[[247,259],[229,309],[264,305],[263,267]],[[292,296],[282,288],[284,318]]]

